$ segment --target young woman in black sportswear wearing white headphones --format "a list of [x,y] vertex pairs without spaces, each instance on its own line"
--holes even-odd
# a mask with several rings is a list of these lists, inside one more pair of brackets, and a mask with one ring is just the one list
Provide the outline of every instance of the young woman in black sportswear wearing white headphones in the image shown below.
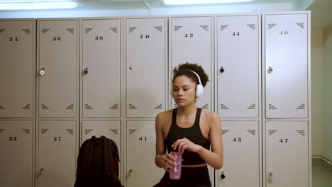
[[[155,164],[165,169],[165,175],[155,187],[211,186],[207,165],[215,169],[223,166],[221,120],[216,113],[195,106],[202,94],[200,89],[207,81],[204,69],[197,64],[180,64],[175,72],[172,97],[178,108],[158,113],[155,120]],[[179,180],[170,179],[170,169],[175,168],[175,158],[170,154],[173,150],[182,152]]]

